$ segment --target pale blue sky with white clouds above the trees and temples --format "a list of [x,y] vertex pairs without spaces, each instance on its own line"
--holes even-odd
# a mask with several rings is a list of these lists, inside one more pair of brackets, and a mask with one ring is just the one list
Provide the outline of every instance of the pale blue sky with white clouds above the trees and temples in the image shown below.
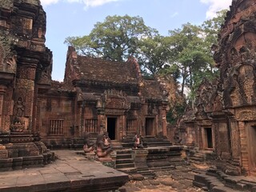
[[65,38],[90,34],[108,15],[140,16],[146,26],[167,35],[190,22],[200,25],[231,0],[41,0],[46,11],[46,46],[53,51],[54,80],[62,81],[66,64]]

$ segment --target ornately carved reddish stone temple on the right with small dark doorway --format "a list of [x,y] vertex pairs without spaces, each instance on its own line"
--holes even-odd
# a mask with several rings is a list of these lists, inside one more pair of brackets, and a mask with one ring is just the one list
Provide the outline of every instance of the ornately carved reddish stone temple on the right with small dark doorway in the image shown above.
[[255,175],[256,1],[234,0],[213,46],[220,70],[216,82],[202,82],[187,137],[201,150],[214,150],[218,167],[230,174]]

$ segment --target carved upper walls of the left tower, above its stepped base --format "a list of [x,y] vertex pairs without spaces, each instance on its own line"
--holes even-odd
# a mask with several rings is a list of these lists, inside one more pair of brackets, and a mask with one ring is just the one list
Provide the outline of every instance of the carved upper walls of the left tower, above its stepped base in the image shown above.
[[7,0],[0,12],[1,131],[35,132],[38,85],[49,86],[51,81],[52,54],[45,46],[46,13],[38,0]]

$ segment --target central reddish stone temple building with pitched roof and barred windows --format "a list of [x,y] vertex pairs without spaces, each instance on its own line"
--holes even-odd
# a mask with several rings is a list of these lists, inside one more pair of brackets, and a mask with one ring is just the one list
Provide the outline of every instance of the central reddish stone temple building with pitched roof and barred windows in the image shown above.
[[56,146],[84,133],[108,132],[116,141],[135,133],[164,136],[167,104],[160,82],[143,78],[134,58],[88,58],[70,46],[64,82],[38,94],[37,128],[44,142]]

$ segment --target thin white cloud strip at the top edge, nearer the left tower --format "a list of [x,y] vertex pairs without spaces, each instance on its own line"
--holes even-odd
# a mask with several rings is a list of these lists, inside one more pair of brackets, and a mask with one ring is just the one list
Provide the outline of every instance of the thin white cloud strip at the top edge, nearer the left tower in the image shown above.
[[66,2],[78,2],[85,5],[85,8],[94,7],[94,6],[102,6],[108,2],[118,2],[120,0],[41,0],[42,6],[49,6],[50,4],[57,3],[59,1]]

